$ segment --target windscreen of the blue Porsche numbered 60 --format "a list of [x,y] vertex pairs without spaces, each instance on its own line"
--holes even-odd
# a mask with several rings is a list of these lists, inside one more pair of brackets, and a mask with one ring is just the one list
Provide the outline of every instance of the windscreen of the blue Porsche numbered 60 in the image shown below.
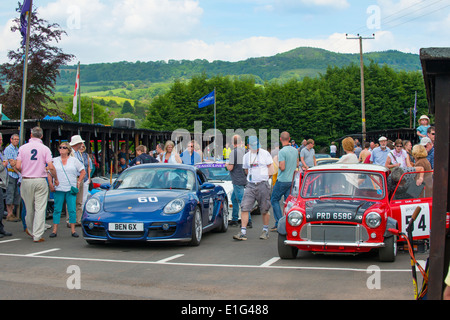
[[193,190],[195,173],[178,168],[137,168],[121,174],[113,189],[180,189]]

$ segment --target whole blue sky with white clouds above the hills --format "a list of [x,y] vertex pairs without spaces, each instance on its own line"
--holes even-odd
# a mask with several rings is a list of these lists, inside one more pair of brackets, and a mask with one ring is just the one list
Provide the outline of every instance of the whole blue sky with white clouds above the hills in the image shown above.
[[[20,46],[19,0],[0,2],[0,63]],[[22,3],[23,0],[20,0]],[[450,46],[450,0],[34,0],[82,64],[240,61],[297,47],[340,53]],[[348,35],[348,36],[346,36]],[[374,35],[374,36],[373,36]]]

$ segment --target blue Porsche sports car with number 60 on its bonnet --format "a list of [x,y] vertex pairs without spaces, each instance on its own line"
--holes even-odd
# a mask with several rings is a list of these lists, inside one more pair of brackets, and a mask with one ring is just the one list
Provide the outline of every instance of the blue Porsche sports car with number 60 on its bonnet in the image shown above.
[[227,195],[194,166],[141,164],[88,199],[82,228],[90,244],[138,240],[199,245],[203,232],[227,231]]

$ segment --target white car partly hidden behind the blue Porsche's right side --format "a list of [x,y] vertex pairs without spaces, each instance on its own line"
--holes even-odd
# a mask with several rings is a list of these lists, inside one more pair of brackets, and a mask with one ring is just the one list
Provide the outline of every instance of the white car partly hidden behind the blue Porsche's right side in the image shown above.
[[[230,172],[225,167],[224,162],[202,162],[195,165],[199,168],[208,178],[208,182],[220,185],[225,189],[228,199],[228,220],[231,220],[231,214],[233,213],[233,203],[231,201],[231,195],[233,193],[233,183],[231,182]],[[239,209],[239,216],[240,216]]]

